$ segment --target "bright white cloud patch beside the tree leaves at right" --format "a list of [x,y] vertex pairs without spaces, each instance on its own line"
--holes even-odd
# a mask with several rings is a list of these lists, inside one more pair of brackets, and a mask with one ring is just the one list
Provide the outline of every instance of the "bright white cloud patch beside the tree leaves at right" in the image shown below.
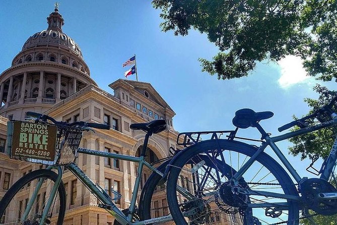
[[294,55],[287,55],[278,62],[281,67],[281,77],[278,83],[282,88],[288,88],[297,83],[310,83],[312,77],[306,76],[307,72],[302,63],[302,59]]

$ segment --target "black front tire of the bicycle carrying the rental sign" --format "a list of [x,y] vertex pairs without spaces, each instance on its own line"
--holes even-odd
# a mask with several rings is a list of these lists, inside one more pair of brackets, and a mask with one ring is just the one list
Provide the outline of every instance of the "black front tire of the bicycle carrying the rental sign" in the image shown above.
[[[42,184],[42,187],[41,187],[41,189],[42,188],[46,188],[46,186],[48,185],[48,184],[50,184],[50,185],[52,185],[52,183],[51,182],[55,182],[56,181],[56,179],[57,179],[57,174],[55,173],[55,172],[53,172],[53,171],[50,171],[50,170],[45,170],[45,169],[42,169],[42,170],[36,170],[36,171],[32,171],[32,172],[30,172],[29,174],[26,174],[25,176],[23,176],[22,178],[20,178],[17,182],[15,182],[14,183],[14,185],[6,192],[6,194],[4,195],[4,197],[2,198],[2,200],[0,201],[0,218],[3,218],[3,215],[4,215],[4,213],[6,212],[6,209],[7,209],[7,207],[10,205],[10,203],[12,202],[12,200],[13,201],[15,201],[16,199],[16,194],[18,194],[18,192],[20,192],[20,190],[23,190],[24,188],[25,188],[25,186],[27,185],[27,184],[31,184],[30,182],[32,182],[32,181],[35,181],[35,180],[37,180],[38,181],[38,179],[40,179],[40,178],[44,178],[44,179],[46,179],[46,183],[43,183]],[[50,180],[49,182],[48,182],[48,180]],[[34,184],[34,183],[33,183]],[[40,189],[40,190],[41,190]],[[65,189],[64,189],[64,184],[63,184],[63,182],[61,181],[60,182],[60,184],[59,184],[59,186],[58,186],[58,199],[59,199],[59,210],[58,210],[58,216],[57,216],[57,222],[56,222],[56,224],[57,225],[61,225],[62,223],[63,223],[63,219],[64,219],[64,214],[65,214],[65,205],[66,205],[66,195],[65,195]],[[57,194],[56,194],[57,195]],[[28,193],[28,196],[29,196],[29,193]],[[41,197],[41,196],[40,196]],[[26,199],[26,198],[25,198]],[[43,197],[42,197],[42,199],[43,199]],[[55,197],[55,200],[57,199],[57,197]],[[33,207],[32,207],[32,210],[34,211],[34,210],[36,210],[36,208],[40,208],[40,206],[41,206],[41,208],[43,208],[43,202],[40,202],[39,201],[40,200],[40,198],[38,198],[38,200],[37,200],[37,202],[39,202],[38,204],[37,204],[37,202],[34,202],[34,204],[35,205],[33,205]],[[45,198],[45,200],[47,201],[47,198]],[[54,200],[54,201],[55,201]],[[46,202],[45,201],[45,202]],[[20,210],[21,210],[21,208],[20,208],[20,203],[19,202],[13,202],[14,204],[16,204],[17,205],[17,207],[19,208],[19,211],[18,211],[18,213],[17,213],[17,211],[15,211],[15,212],[12,212],[11,211],[11,213],[10,213],[10,215],[9,216],[11,216],[11,217],[6,217],[6,215],[5,215],[5,217],[4,217],[4,219],[5,219],[5,221],[7,220],[7,219],[11,219],[11,220],[13,220],[13,219],[16,219],[17,221],[8,221],[8,222],[20,222],[20,219],[21,218],[16,218],[17,216],[19,216],[20,215]],[[19,204],[18,204],[19,203]],[[41,203],[41,204],[40,204]],[[38,205],[38,206],[36,206],[36,205]],[[51,208],[53,207],[53,205],[51,206]],[[23,210],[24,211],[24,210]],[[23,213],[22,211],[21,211],[21,213]],[[36,213],[36,212],[35,212]],[[33,212],[33,214],[35,214],[34,212]],[[7,213],[6,213],[7,214]],[[15,216],[13,216],[15,214]],[[49,213],[48,213],[49,214]],[[35,217],[35,216],[34,216]],[[37,218],[36,218],[37,219]],[[22,222],[22,221],[21,221]],[[30,222],[33,222],[33,220],[30,220]],[[19,223],[18,223],[19,224]],[[20,223],[21,224],[21,223]]]

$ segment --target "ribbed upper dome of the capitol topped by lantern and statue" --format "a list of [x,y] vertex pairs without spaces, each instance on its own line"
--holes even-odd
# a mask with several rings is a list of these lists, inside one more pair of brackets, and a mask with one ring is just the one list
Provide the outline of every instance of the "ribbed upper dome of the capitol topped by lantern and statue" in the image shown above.
[[48,29],[42,30],[41,32],[37,32],[30,36],[24,43],[22,51],[38,46],[55,46],[71,50],[83,59],[80,46],[74,41],[74,39],[62,32],[64,20],[62,15],[58,13],[57,9],[55,9],[55,12],[52,12],[49,17],[47,17],[47,22]]

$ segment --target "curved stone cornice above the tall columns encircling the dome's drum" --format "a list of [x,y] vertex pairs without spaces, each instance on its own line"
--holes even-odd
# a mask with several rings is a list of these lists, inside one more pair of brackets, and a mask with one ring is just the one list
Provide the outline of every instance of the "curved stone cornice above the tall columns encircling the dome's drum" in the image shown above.
[[8,75],[9,73],[16,71],[18,69],[22,69],[22,68],[32,68],[33,67],[47,67],[48,69],[50,68],[60,68],[72,73],[75,73],[81,77],[83,77],[84,79],[88,80],[92,85],[98,86],[96,84],[96,82],[89,77],[87,74],[83,73],[82,71],[78,70],[78,69],[74,69],[71,66],[68,65],[64,65],[64,64],[59,64],[59,63],[54,63],[54,62],[50,62],[50,61],[37,61],[37,62],[29,62],[29,63],[22,63],[22,64],[18,64],[15,65],[13,67],[10,67],[9,69],[5,70],[2,74],[0,74],[0,83],[4,82],[4,77],[6,75]]

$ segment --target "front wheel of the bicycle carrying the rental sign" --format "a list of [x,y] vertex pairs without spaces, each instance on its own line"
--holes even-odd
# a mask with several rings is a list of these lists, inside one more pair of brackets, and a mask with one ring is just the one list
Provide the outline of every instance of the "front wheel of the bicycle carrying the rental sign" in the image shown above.
[[[40,179],[44,179],[44,181],[31,210],[28,212],[27,218],[23,221],[21,218]],[[43,209],[50,197],[49,192],[54,186],[56,179],[57,174],[50,170],[36,170],[20,178],[0,201],[0,218],[2,218],[4,224],[39,224]],[[56,197],[53,199],[48,212],[47,219],[43,224],[61,225],[65,213],[65,203],[65,189],[61,181],[58,186],[58,192],[56,192]]]

